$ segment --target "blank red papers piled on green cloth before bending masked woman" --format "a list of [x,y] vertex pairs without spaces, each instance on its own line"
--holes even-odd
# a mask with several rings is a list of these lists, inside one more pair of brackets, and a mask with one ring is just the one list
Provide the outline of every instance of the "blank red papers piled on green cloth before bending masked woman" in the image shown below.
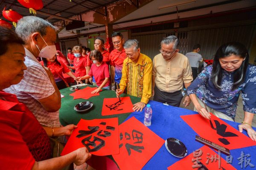
[[[76,90],[76,92],[73,92],[70,95],[73,96],[74,99],[78,99],[78,98],[89,99],[93,96],[99,95],[99,92],[97,94],[96,93],[91,94],[91,92],[96,89],[97,89],[97,87],[86,87],[84,89],[78,89],[78,90]],[[102,90],[100,90],[100,92],[101,91]]]

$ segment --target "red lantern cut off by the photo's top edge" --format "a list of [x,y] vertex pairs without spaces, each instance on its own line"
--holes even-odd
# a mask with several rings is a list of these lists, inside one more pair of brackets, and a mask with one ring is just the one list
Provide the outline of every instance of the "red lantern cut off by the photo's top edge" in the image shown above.
[[42,9],[44,4],[42,0],[18,0],[19,3],[29,9],[30,14],[36,14],[35,10]]

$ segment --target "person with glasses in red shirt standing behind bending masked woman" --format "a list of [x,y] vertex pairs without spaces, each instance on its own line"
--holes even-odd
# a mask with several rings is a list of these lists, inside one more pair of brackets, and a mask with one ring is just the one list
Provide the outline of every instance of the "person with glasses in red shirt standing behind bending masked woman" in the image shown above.
[[[101,38],[101,37],[97,37],[95,40],[94,40],[94,49],[97,49],[99,50],[101,53],[102,53],[102,56],[103,56],[103,62],[107,63],[109,65],[109,62],[110,62],[110,54],[108,51],[106,51],[104,48],[104,40]],[[92,66],[92,61],[90,60],[90,53],[88,53],[87,55],[87,72],[90,71],[90,68]],[[92,81],[92,78],[89,79],[90,83],[93,82],[93,85],[96,86],[96,82],[93,78],[93,81]]]

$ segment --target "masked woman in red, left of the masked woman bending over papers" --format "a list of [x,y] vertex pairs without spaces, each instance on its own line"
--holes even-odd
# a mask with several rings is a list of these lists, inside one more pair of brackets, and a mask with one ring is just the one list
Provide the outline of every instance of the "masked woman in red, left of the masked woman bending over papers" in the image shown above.
[[[82,77],[82,76],[86,75],[87,58],[82,56],[83,49],[82,49],[81,46],[74,46],[72,51],[73,51],[73,54],[75,56],[74,66],[67,66],[67,67],[76,70],[75,71],[75,76],[76,77]],[[88,83],[89,80],[86,79],[84,82]]]

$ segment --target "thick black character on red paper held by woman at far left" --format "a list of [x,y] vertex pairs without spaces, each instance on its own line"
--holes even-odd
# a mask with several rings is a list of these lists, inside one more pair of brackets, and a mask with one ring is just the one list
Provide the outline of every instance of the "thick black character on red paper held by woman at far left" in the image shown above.
[[[100,124],[105,126],[106,122],[101,122]],[[88,126],[89,130],[79,130],[79,135],[77,135],[76,137],[81,138],[89,135],[86,138],[84,138],[81,142],[85,147],[87,147],[89,152],[94,152],[94,151],[100,150],[102,147],[105,146],[105,141],[102,138],[111,136],[111,133],[107,130],[112,130],[112,131],[115,130],[115,127],[111,127],[111,126],[106,126],[105,128],[106,130],[100,130],[99,126],[94,126],[94,127]]]

